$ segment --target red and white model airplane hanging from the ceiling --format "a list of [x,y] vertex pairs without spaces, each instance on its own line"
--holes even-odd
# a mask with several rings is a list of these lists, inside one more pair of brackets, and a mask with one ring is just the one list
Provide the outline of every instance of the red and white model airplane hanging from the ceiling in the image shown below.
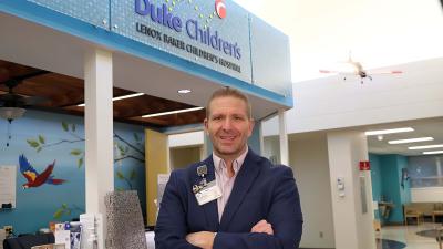
[[363,65],[358,62],[352,60],[351,53],[349,53],[348,61],[344,62],[347,64],[347,70],[320,70],[320,73],[338,73],[339,75],[343,76],[343,81],[347,80],[347,76],[360,76],[360,83],[363,84],[364,79],[369,79],[372,81],[372,75],[374,74],[400,74],[403,73],[400,70],[393,70],[393,71],[373,71],[373,72],[368,72],[367,70],[363,69]]

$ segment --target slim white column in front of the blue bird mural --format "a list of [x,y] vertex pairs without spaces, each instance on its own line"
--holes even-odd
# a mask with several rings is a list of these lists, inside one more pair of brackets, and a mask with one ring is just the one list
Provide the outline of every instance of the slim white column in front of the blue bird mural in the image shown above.
[[[104,196],[114,190],[112,53],[92,50],[85,53],[85,178],[86,212],[102,214],[106,231]],[[99,248],[104,248],[104,238]]]

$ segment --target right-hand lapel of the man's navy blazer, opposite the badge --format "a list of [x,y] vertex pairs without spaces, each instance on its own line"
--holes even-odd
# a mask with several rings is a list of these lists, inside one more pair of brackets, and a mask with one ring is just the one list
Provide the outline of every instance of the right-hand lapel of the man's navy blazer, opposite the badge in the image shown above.
[[226,231],[234,218],[237,209],[240,207],[245,195],[248,193],[249,188],[253,186],[255,179],[257,178],[260,167],[256,163],[259,157],[249,149],[245,162],[238,172],[235,179],[233,191],[230,193],[228,203],[226,204],[225,210],[222,216],[219,229]]

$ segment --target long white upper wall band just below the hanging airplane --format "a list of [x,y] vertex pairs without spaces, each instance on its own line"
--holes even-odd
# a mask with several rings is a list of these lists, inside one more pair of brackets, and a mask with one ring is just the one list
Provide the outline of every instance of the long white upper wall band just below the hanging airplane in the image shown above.
[[443,58],[402,65],[403,75],[363,84],[339,76],[293,84],[288,133],[443,116],[442,68]]

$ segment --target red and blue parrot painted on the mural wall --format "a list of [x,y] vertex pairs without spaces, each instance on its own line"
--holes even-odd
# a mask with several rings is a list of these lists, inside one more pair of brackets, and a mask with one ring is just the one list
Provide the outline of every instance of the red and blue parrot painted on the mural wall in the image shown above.
[[55,160],[48,165],[41,174],[37,173],[24,155],[20,155],[19,163],[21,174],[28,179],[28,183],[22,185],[23,189],[40,187],[43,184],[61,185],[65,181],[64,179],[54,179],[54,177],[51,176],[55,166]]

